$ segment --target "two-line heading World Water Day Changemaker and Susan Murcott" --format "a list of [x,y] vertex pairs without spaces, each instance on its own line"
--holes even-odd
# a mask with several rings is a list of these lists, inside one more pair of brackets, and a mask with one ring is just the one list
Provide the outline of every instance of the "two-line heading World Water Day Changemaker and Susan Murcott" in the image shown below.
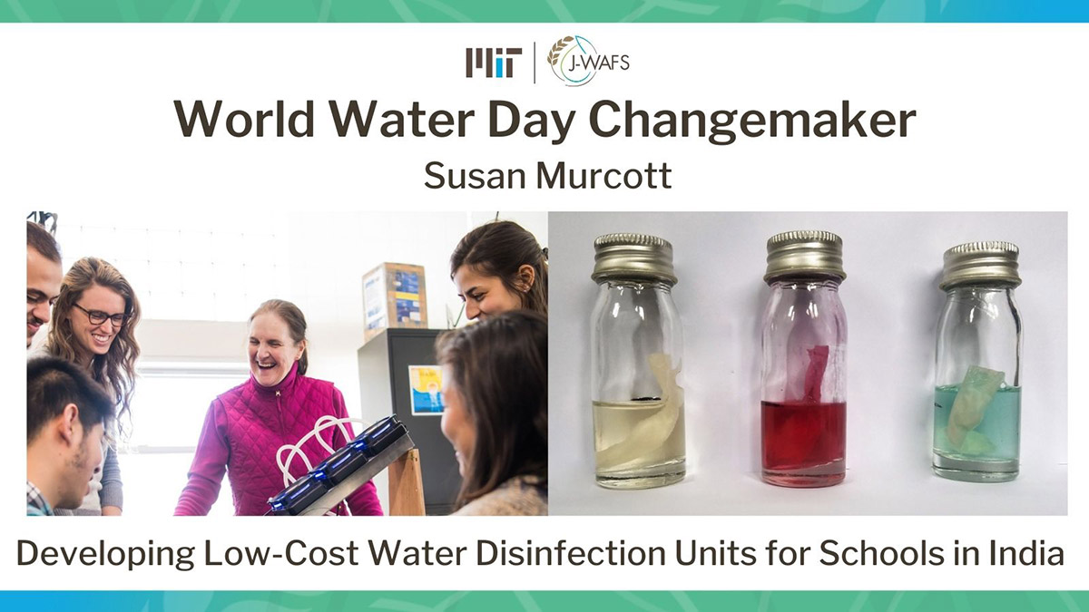
[[[670,110],[644,109],[632,100],[594,102],[586,119],[575,110],[522,109],[509,100],[490,100],[478,119],[475,109],[428,110],[414,101],[406,109],[386,108],[379,100],[329,100],[322,132],[359,138],[527,138],[560,146],[578,126],[598,138],[683,138],[729,146],[751,138],[906,138],[916,110],[858,110],[841,100],[816,110]],[[301,108],[277,100],[268,109],[232,109],[223,100],[174,100],[183,137],[295,137],[318,133],[314,100]],[[485,127],[482,124],[487,123]],[[481,124],[477,127],[477,124]],[[538,161],[531,168],[452,168],[439,160],[425,163],[423,185],[430,189],[669,189],[673,168],[648,161],[631,168],[573,168],[565,161]]]

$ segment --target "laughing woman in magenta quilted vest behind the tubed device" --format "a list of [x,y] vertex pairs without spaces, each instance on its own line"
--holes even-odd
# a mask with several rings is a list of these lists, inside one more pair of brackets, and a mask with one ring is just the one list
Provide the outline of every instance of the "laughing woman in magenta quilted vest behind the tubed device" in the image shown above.
[[[269,498],[284,489],[278,450],[297,444],[323,416],[347,418],[344,396],[331,382],[303,376],[306,319],[290,302],[270,299],[249,317],[249,380],[216,397],[208,407],[189,481],[178,500],[175,515],[208,514],[227,472],[231,474],[234,513],[265,514]],[[354,437],[351,425],[345,426]],[[311,437],[302,446],[311,466],[330,454],[319,437],[333,450],[347,442],[340,427]],[[308,472],[297,456],[289,468],[295,478]],[[382,506],[375,485],[367,482],[334,511],[380,515]]]

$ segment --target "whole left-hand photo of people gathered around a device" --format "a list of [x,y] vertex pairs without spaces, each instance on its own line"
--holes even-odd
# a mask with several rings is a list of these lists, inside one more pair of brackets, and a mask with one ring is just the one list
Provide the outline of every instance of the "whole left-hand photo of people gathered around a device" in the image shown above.
[[27,515],[548,514],[548,215],[35,211]]

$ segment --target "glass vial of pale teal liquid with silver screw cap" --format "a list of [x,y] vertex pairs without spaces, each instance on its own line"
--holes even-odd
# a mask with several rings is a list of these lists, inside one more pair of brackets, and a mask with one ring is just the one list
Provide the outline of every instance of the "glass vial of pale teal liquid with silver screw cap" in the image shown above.
[[1017,246],[974,242],[954,246],[943,259],[934,473],[969,482],[1013,480],[1020,461]]

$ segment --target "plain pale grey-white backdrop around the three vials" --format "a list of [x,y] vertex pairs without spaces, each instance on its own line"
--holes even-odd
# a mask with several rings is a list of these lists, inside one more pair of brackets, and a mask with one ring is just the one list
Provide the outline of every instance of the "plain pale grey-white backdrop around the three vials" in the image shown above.
[[[550,454],[553,514],[1066,514],[1065,213],[552,213]],[[764,485],[760,327],[766,241],[819,229],[844,241],[847,478],[827,489]],[[594,238],[673,243],[684,326],[688,477],[646,491],[594,484],[590,313]],[[1021,472],[1008,484],[930,470],[942,254],[1005,240],[1021,248]]]

